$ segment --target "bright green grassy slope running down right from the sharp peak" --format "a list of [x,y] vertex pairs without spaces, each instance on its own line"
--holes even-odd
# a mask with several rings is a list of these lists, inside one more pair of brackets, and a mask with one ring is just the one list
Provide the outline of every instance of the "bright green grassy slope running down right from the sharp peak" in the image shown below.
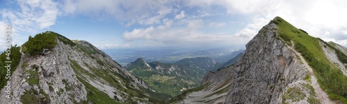
[[290,41],[294,42],[295,49],[303,54],[305,60],[314,69],[319,85],[328,92],[329,97],[332,100],[347,103],[347,76],[344,76],[341,70],[325,57],[319,45],[319,39],[311,37],[304,30],[295,28],[280,17],[276,17],[273,23],[278,25],[278,34],[288,45],[292,45]]

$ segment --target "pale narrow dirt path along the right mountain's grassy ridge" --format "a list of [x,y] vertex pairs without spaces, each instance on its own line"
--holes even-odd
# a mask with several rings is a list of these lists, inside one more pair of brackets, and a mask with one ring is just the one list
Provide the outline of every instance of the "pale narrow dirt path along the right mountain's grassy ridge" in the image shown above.
[[330,103],[335,103],[333,101],[331,101],[328,97],[328,94],[326,94],[321,87],[319,86],[319,83],[317,82],[316,76],[314,75],[314,72],[312,70],[312,68],[310,67],[310,65],[308,65],[305,61],[305,59],[303,58],[303,56],[301,55],[301,53],[296,52],[296,50],[294,50],[294,43],[293,41],[291,41],[291,44],[293,44],[292,47],[288,47],[289,49],[293,50],[296,54],[298,54],[298,56],[300,57],[301,61],[303,61],[305,67],[307,68],[308,72],[310,72],[311,75],[311,85],[314,88],[314,92],[316,92],[316,96],[317,98],[319,98],[319,101],[321,101],[321,103],[323,104],[330,104]]

